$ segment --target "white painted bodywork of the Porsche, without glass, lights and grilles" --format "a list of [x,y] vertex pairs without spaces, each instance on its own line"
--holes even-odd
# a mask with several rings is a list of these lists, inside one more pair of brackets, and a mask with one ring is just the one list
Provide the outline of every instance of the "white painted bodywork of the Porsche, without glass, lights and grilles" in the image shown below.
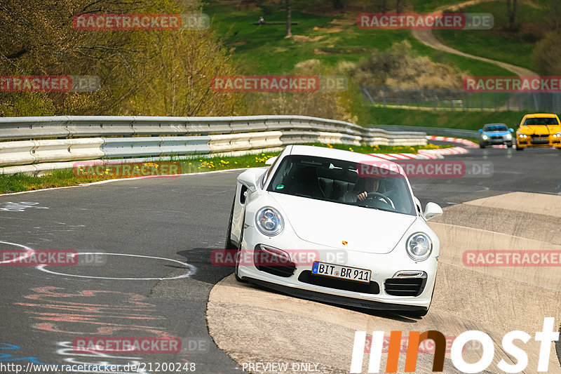
[[[327,251],[322,250],[344,250],[347,259],[341,265],[370,269],[372,271],[371,280],[377,281],[380,286],[380,293],[377,295],[357,293],[314,286],[298,281],[299,274],[311,270],[311,265],[298,265],[295,274],[288,278],[261,272],[252,265],[241,266],[237,269],[238,276],[318,293],[428,308],[431,305],[435,284],[440,241],[433,230],[426,225],[426,218],[421,215],[421,212],[417,211],[416,215],[406,215],[267,192],[266,187],[271,182],[276,168],[278,168],[282,159],[290,154],[309,154],[355,162],[370,161],[368,158],[370,156],[337,149],[307,146],[286,147],[278,156],[278,162],[271,166],[269,173],[267,173],[269,169],[266,168],[253,169],[252,171],[245,171],[238,177],[238,181],[255,180],[252,184],[252,186],[255,186],[255,192],[248,190],[245,202],[242,203],[242,186],[238,182],[231,239],[238,243],[243,226],[243,238],[239,243],[239,248],[243,252],[252,253],[253,248],[262,243],[280,249],[318,250],[320,261],[325,261],[326,259],[322,256],[325,256]],[[376,160],[372,158],[371,161]],[[408,181],[407,185],[414,203],[420,206],[419,200],[414,197]],[[255,214],[264,206],[276,208],[283,215],[285,227],[276,236],[265,236],[255,227]],[[429,203],[425,214],[435,216],[438,214],[438,209],[440,209],[438,205]],[[442,213],[442,209],[440,209],[440,213]],[[417,232],[424,232],[433,242],[430,257],[421,262],[412,260],[406,251],[407,240]],[[347,242],[346,245],[343,244],[343,241]],[[243,258],[246,257],[243,256]],[[397,272],[412,270],[428,274],[426,286],[421,295],[404,297],[388,295],[384,292],[384,281],[386,279],[392,278]],[[388,309],[391,309],[391,305],[388,305]]]

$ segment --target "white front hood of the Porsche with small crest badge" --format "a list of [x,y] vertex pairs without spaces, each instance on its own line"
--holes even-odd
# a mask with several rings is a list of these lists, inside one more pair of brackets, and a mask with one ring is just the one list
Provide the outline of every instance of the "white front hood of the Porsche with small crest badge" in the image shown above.
[[300,196],[269,194],[300,239],[349,251],[391,252],[417,220],[414,215]]

